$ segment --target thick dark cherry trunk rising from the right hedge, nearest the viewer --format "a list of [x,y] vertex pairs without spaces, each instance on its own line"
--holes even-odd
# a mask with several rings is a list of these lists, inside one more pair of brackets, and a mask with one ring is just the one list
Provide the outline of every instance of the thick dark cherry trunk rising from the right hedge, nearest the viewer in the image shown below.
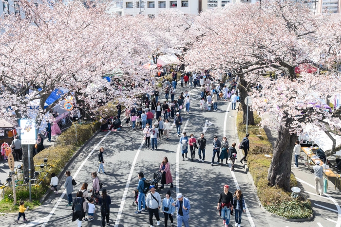
[[277,185],[285,191],[290,192],[291,158],[297,139],[298,137],[295,134],[290,135],[289,126],[280,127],[267,175],[270,186]]

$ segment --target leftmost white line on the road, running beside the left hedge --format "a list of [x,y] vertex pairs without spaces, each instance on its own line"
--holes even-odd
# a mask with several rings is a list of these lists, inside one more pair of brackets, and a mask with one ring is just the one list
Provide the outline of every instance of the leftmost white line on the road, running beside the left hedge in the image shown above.
[[[76,178],[76,176],[78,175],[79,171],[82,169],[82,167],[84,166],[84,164],[86,163],[86,161],[89,159],[89,157],[94,153],[94,151],[96,150],[97,146],[99,146],[99,144],[101,144],[103,142],[103,140],[111,133],[111,131],[109,131],[103,138],[102,140],[100,140],[97,145],[94,147],[94,149],[89,153],[89,155],[84,159],[84,161],[82,162],[82,164],[79,166],[79,168],[76,171],[76,174],[73,175],[74,179]],[[35,220],[34,222],[30,222],[28,224],[22,225],[20,227],[33,227],[33,226],[37,226],[41,223],[43,223],[43,225],[41,227],[45,227],[47,225],[47,223],[49,222],[50,218],[52,217],[52,215],[55,213],[55,211],[57,210],[61,200],[63,199],[64,195],[66,194],[66,189],[64,190],[64,192],[60,195],[57,203],[55,204],[54,208],[51,210],[50,214],[46,217],[40,218]]]

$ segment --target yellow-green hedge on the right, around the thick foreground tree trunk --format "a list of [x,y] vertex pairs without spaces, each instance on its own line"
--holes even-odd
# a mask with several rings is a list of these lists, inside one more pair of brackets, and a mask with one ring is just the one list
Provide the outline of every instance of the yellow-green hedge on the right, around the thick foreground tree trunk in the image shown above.
[[[290,192],[278,187],[270,187],[267,180],[268,169],[271,164],[271,157],[265,157],[265,154],[272,154],[273,148],[263,128],[260,128],[261,119],[254,113],[256,125],[248,125],[248,133],[250,134],[250,152],[247,156],[247,165],[249,172],[253,177],[255,186],[257,187],[257,195],[268,212],[282,216],[284,218],[309,218],[312,215],[311,202],[302,197],[292,198]],[[246,125],[243,125],[243,112],[237,114],[237,132],[239,139],[245,137]],[[261,135],[261,137],[256,136]],[[297,186],[295,176],[290,176],[290,187]]]

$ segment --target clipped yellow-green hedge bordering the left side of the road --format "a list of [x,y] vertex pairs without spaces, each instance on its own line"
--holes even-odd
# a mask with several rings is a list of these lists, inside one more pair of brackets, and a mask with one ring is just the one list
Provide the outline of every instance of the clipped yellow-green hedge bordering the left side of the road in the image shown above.
[[[75,154],[76,150],[80,145],[84,144],[91,136],[100,128],[100,123],[90,123],[90,124],[77,124],[77,139],[76,139],[76,129],[73,124],[69,129],[63,132],[58,138],[55,146],[48,147],[43,151],[39,152],[33,159],[35,165],[40,165],[44,163],[44,158],[48,159],[48,169],[50,171],[44,171],[40,173],[38,182],[42,181],[40,186],[32,186],[32,202],[29,200],[29,189],[28,186],[17,186],[17,205],[13,205],[13,197],[9,196],[13,194],[12,188],[5,188],[5,197],[0,201],[0,212],[13,212],[19,210],[19,201],[25,201],[25,205],[34,208],[40,205],[41,197],[46,193],[47,189],[50,187],[51,174],[55,173],[58,175],[64,168],[65,164],[70,160],[70,158]],[[38,167],[39,168],[39,167]],[[43,177],[47,174],[44,180]],[[19,183],[17,183],[19,184]]]

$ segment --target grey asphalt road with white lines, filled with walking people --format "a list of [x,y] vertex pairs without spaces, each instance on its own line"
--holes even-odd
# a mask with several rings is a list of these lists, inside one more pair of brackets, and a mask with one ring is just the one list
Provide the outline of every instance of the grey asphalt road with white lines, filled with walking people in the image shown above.
[[[179,93],[180,90],[184,89],[178,88],[177,90]],[[165,156],[170,161],[170,171],[172,173],[174,186],[176,187],[170,189],[170,185],[165,186],[165,189],[159,193],[163,199],[167,190],[170,189],[172,197],[175,198],[178,190],[185,197],[189,198],[191,205],[191,210],[189,211],[190,226],[223,227],[222,219],[219,217],[216,206],[219,193],[223,191],[225,184],[230,186],[230,192],[235,192],[237,188],[240,188],[244,194],[247,212],[243,213],[243,227],[317,226],[315,222],[306,224],[288,223],[265,215],[258,206],[245,169],[239,161],[236,161],[236,171],[233,173],[231,173],[229,167],[225,164],[224,166],[220,166],[215,163],[213,167],[210,165],[212,158],[211,143],[214,135],[218,135],[220,140],[226,135],[229,144],[232,142],[238,144],[239,142],[236,139],[235,127],[237,110],[231,110],[229,102],[219,101],[219,111],[200,111],[199,97],[197,96],[200,92],[198,89],[194,89],[190,94],[196,100],[191,103],[190,113],[188,115],[182,115],[184,124],[181,130],[186,131],[187,135],[193,133],[198,138],[203,131],[202,128],[206,120],[212,123],[208,126],[205,133],[208,145],[204,163],[198,161],[199,157],[197,154],[194,161],[190,161],[189,158],[185,159],[185,161],[182,160],[179,138],[176,135],[175,127],[170,131],[170,140],[158,141],[158,149],[154,151],[151,149],[147,150],[144,145],[142,146],[143,133],[140,130],[123,127],[120,132],[100,132],[88,143],[83,152],[76,157],[76,160],[69,168],[71,175],[78,182],[74,187],[73,197],[75,197],[76,192],[81,187],[81,183],[87,182],[91,185],[91,172],[97,171],[98,169],[98,150],[100,147],[104,147],[105,171],[108,174],[99,175],[99,178],[104,184],[103,188],[108,190],[108,194],[112,198],[110,214],[111,226],[114,226],[115,223],[116,227],[150,226],[148,212],[142,214],[134,213],[135,207],[132,206],[133,190],[137,187],[137,173],[143,172],[147,178],[152,178],[152,175],[158,171],[159,165]],[[190,157],[189,154],[188,157]],[[238,159],[240,159],[240,156]],[[216,158],[215,161],[217,161]],[[177,165],[178,170],[176,168]],[[64,181],[65,177],[60,180],[59,185],[62,185]],[[59,192],[62,192],[62,190]],[[30,222],[21,223],[20,221],[19,226],[76,227],[76,223],[72,222],[71,207],[66,207],[66,205],[66,195],[63,196],[61,193],[57,196],[50,194],[50,197],[48,197],[47,201],[41,207],[27,211],[26,215]],[[95,220],[92,222],[83,222],[82,227],[101,226],[100,215],[98,214],[100,214],[100,210],[99,206],[96,206]],[[160,226],[163,227],[163,214],[160,214],[160,217]],[[174,223],[176,223],[175,220]],[[234,224],[234,216],[231,216],[229,226],[232,227]],[[8,223],[5,226],[12,225]],[[156,226],[155,218],[154,226]],[[323,225],[323,227],[325,226],[335,226],[335,224]]]

